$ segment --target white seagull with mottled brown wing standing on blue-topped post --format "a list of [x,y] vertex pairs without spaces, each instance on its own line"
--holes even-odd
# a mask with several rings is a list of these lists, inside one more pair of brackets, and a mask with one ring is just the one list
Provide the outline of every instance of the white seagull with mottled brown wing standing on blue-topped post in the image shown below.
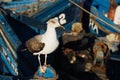
[[[38,55],[40,70],[43,73],[46,70],[45,66],[47,64],[47,55],[55,51],[59,46],[59,41],[55,30],[57,27],[62,27],[64,29],[64,27],[59,24],[58,19],[50,19],[47,21],[47,30],[44,34],[36,35],[26,42],[28,51],[32,52],[33,55]],[[36,50],[31,50],[30,47],[34,47],[33,49]],[[40,61],[41,54],[45,55],[44,66],[41,65]]]

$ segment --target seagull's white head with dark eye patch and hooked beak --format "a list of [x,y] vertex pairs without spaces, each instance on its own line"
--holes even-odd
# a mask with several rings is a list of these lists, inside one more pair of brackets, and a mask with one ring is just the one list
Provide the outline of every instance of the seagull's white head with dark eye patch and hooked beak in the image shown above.
[[54,28],[62,27],[64,29],[64,27],[60,25],[57,18],[53,18],[53,19],[50,19],[49,21],[47,21],[47,25],[54,27]]

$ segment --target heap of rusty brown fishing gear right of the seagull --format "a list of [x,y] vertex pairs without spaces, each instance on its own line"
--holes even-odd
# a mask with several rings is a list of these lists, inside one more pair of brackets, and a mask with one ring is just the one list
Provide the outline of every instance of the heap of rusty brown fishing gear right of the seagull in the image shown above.
[[[78,27],[78,23],[75,24]],[[79,30],[76,30],[79,29]],[[79,27],[72,27],[72,32],[64,33],[63,55],[68,59],[70,64],[78,64],[81,58],[83,71],[94,72],[102,80],[107,80],[106,63],[111,54],[119,51],[120,35],[118,33],[110,33],[105,37],[99,37],[92,33],[85,33],[81,24]],[[74,67],[76,68],[76,67]]]

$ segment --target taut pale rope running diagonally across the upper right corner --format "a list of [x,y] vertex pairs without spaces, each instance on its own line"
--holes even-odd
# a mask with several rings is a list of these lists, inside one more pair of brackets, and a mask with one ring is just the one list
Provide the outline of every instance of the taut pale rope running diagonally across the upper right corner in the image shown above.
[[78,5],[77,3],[75,3],[74,1],[72,0],[69,0],[71,3],[73,3],[74,5],[76,5],[78,8],[82,9],[83,11],[85,11],[86,13],[88,13],[89,15],[92,15],[93,17],[95,17],[96,19],[99,19],[100,21],[104,22],[105,24],[107,24],[108,26],[112,27],[113,29],[117,30],[120,32],[120,29],[114,27],[113,25],[107,23],[106,21],[104,21],[103,19],[93,15],[92,13],[90,13],[89,11],[87,11],[86,9],[84,9],[83,7],[81,7],[80,5]]

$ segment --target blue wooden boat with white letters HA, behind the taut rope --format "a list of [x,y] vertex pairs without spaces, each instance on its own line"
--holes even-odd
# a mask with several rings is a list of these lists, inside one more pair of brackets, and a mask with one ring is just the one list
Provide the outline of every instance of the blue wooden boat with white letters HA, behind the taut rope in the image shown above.
[[[117,3],[120,3],[119,0],[116,1]],[[106,14],[108,14],[109,6],[110,6],[106,4],[109,4],[109,1],[104,1],[102,3],[98,3],[97,0],[93,1],[90,10],[91,12],[90,21],[89,21],[90,31],[99,36],[106,36],[107,34],[113,32],[120,34],[120,26],[116,25],[106,16]],[[119,61],[120,59],[119,53],[117,55],[111,54],[110,58],[112,60]]]

